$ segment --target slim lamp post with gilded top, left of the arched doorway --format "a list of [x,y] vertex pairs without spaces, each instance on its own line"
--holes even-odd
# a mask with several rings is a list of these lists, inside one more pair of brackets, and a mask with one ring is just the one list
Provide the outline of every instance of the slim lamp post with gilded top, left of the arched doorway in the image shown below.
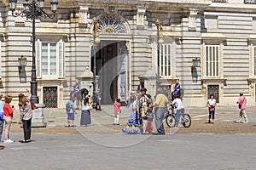
[[92,107],[96,109],[96,45],[101,42],[99,38],[99,33],[97,30],[99,29],[99,23],[96,21],[96,17],[93,18],[93,104]]

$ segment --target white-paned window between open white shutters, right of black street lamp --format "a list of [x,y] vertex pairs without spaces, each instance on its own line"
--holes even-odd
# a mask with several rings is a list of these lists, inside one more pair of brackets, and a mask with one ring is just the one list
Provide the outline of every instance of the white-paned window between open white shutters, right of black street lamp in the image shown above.
[[42,42],[41,47],[42,76],[54,77],[57,74],[56,43]]

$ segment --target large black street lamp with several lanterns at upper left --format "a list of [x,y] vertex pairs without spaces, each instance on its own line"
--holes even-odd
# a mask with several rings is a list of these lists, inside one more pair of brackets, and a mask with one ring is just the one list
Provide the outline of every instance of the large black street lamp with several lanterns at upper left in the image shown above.
[[47,14],[44,12],[44,0],[38,0],[38,3],[36,0],[32,0],[32,3],[29,2],[28,0],[23,3],[24,9],[20,12],[17,13],[15,12],[16,8],[16,3],[17,0],[9,0],[9,8],[12,11],[12,15],[14,17],[17,16],[25,16],[26,19],[32,20],[32,77],[31,77],[31,94],[32,94],[32,102],[35,104],[39,103],[38,99],[38,82],[37,82],[37,74],[36,74],[36,56],[35,56],[35,51],[36,51],[36,19],[39,17],[43,16],[44,18],[48,17],[50,19],[55,18],[55,12],[57,10],[57,0],[51,0],[50,5],[51,5],[51,11],[53,14]]

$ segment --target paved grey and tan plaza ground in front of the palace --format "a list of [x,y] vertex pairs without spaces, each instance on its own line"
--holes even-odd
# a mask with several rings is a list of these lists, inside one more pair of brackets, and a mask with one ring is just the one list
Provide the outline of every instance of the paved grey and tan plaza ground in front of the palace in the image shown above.
[[32,142],[22,144],[15,116],[3,144],[0,169],[255,169],[256,107],[247,108],[249,123],[236,123],[236,107],[218,107],[216,122],[207,122],[206,108],[190,108],[189,128],[166,127],[166,135],[128,135],[121,132],[130,116],[123,108],[119,126],[113,126],[113,107],[92,111],[92,124],[67,127],[60,109],[44,111],[47,127],[32,128]]

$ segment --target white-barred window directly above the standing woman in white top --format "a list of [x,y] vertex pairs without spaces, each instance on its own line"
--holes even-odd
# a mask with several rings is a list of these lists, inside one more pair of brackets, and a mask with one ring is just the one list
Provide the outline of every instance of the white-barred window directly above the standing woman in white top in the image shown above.
[[219,77],[219,45],[206,45],[205,70],[206,77]]

